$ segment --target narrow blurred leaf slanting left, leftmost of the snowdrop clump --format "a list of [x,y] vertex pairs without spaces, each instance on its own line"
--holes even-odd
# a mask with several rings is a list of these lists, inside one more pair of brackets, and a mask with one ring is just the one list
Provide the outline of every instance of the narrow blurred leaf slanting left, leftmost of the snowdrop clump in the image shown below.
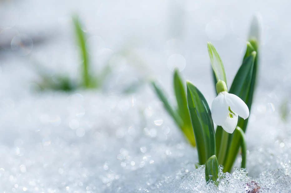
[[170,114],[170,116],[172,116],[172,118],[174,119],[176,124],[180,128],[182,128],[183,121],[179,117],[179,115],[174,111],[174,109],[171,107],[171,105],[169,104],[168,98],[166,97],[164,91],[162,89],[160,89],[160,87],[155,82],[152,82],[152,85],[155,89],[155,93],[158,95],[159,99],[163,102],[166,111]]

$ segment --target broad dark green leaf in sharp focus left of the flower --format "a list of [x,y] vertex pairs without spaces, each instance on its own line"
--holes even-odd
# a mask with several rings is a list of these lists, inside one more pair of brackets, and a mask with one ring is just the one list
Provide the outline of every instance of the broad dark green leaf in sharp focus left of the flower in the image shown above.
[[202,165],[210,156],[216,154],[213,120],[203,94],[190,82],[187,82],[187,100],[199,163]]

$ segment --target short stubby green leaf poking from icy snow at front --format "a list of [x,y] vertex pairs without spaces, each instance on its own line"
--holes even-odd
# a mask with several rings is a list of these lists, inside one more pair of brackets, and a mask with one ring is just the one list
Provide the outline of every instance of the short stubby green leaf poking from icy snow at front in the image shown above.
[[211,156],[205,163],[205,180],[209,182],[210,180],[214,181],[218,185],[218,172],[219,165],[215,155]]

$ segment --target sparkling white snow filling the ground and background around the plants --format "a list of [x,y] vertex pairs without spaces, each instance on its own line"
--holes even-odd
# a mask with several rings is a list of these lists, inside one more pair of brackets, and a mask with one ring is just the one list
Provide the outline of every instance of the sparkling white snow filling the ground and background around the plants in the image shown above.
[[[3,2],[0,12],[8,18],[0,22],[1,192],[291,191],[290,3],[47,3]],[[85,21],[92,71],[108,64],[111,72],[100,90],[41,92],[36,69],[79,79],[73,11]],[[157,79],[173,103],[171,70],[178,66],[211,104],[206,41],[219,51],[230,83],[256,13],[263,29],[247,170],[238,156],[231,173],[219,174],[219,186],[206,184],[195,148],[146,82]]]

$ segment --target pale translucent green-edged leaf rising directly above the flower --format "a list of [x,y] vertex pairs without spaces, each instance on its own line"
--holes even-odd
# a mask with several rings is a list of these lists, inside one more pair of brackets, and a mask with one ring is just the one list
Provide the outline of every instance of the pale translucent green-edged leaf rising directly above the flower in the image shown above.
[[[211,66],[215,74],[216,82],[223,80],[226,84],[226,76],[222,60],[212,43],[207,42],[208,54],[211,61]],[[226,84],[227,85],[227,84]]]

